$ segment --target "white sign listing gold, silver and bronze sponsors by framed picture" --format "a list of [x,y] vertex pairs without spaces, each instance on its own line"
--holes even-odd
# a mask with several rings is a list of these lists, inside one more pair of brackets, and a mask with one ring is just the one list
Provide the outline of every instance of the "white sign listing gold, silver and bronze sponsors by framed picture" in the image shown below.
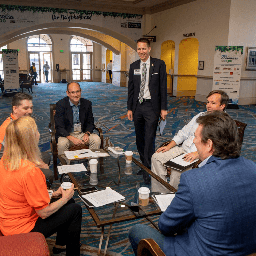
[[215,46],[213,90],[225,91],[238,104],[243,46]]

